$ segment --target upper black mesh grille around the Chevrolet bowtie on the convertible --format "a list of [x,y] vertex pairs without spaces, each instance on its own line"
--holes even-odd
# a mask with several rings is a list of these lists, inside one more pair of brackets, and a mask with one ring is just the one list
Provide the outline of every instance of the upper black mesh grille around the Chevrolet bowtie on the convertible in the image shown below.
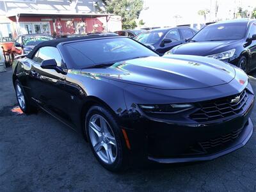
[[[232,102],[237,97],[239,97],[239,101]],[[199,102],[199,109],[192,113],[190,118],[200,123],[221,120],[243,111],[247,100],[248,93],[244,90],[237,95]]]

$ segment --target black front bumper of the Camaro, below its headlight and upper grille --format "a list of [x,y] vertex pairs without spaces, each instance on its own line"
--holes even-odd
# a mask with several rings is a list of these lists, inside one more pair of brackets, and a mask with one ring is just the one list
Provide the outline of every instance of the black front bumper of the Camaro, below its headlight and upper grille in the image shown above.
[[164,120],[137,118],[127,129],[131,152],[159,163],[207,161],[243,147],[252,136],[250,119],[254,96],[243,111],[208,124],[176,124]]

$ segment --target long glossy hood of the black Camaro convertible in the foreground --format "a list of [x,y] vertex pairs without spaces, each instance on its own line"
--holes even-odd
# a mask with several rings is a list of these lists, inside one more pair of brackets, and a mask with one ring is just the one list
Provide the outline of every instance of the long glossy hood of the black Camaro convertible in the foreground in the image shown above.
[[115,63],[108,68],[81,70],[81,74],[159,89],[206,88],[226,84],[234,68],[222,61],[198,56],[147,57]]

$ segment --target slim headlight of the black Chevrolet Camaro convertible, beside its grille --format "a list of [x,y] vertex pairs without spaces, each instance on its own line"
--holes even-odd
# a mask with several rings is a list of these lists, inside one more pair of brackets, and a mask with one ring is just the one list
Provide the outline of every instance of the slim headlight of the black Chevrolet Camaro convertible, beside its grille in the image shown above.
[[140,104],[139,106],[145,113],[179,113],[194,108],[192,104]]

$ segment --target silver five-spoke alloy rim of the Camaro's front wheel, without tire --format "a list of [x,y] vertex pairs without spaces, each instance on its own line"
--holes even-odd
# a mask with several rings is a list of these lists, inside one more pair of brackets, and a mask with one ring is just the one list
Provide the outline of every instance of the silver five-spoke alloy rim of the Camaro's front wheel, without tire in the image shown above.
[[116,138],[107,120],[98,114],[89,120],[89,135],[93,149],[97,156],[107,164],[113,164],[116,160]]

